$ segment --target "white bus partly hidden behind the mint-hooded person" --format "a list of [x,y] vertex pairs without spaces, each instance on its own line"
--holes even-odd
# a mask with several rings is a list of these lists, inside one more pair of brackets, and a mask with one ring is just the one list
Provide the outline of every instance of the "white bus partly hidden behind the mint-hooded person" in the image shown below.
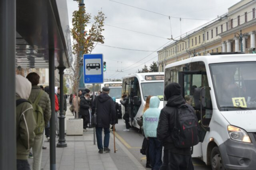
[[[158,96],[160,109],[163,106],[164,73],[135,73],[123,77],[122,94],[128,96],[128,112],[130,126],[139,128],[136,118],[142,115],[146,99],[149,95]],[[125,108],[122,106],[122,112]]]

